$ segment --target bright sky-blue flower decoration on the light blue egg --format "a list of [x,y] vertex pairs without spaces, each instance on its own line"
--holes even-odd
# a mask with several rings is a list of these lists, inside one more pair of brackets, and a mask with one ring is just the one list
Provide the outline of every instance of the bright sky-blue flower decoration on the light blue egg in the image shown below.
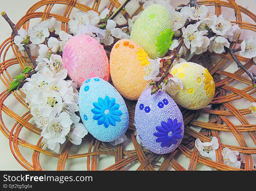
[[98,121],[98,125],[104,124],[108,128],[109,124],[115,126],[116,121],[121,121],[119,116],[122,115],[122,111],[118,110],[120,105],[115,103],[115,98],[110,100],[108,96],[105,99],[99,97],[98,103],[94,102],[93,106],[93,119]]

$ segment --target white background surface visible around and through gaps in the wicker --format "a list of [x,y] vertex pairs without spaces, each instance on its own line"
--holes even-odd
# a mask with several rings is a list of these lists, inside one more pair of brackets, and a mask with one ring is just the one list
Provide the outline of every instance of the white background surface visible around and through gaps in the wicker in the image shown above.
[[[13,21],[13,23],[17,23],[18,20],[23,17],[26,13],[26,11],[37,2],[38,0],[26,0],[26,1],[20,1],[20,0],[11,0],[11,1],[4,1],[1,0],[0,1],[0,11],[6,11],[6,13],[8,14],[8,16],[10,17],[10,19]],[[107,0],[102,0],[104,3],[107,3]],[[106,2],[105,2],[106,1]],[[123,0],[120,0],[120,2],[122,2]],[[187,3],[189,0],[172,0],[172,5],[174,7],[177,7],[178,4],[182,4],[182,3]],[[80,0],[79,2],[81,3],[91,3],[92,0]],[[251,12],[256,14],[256,1],[251,1],[251,0],[236,0],[238,5],[248,5],[248,10],[250,10]],[[132,2],[128,3],[127,5],[127,11],[129,12],[129,10],[134,8],[134,3],[135,0],[132,0]],[[211,7],[211,10],[213,10],[214,7]],[[99,9],[99,11],[103,10],[104,7],[101,7]],[[42,10],[43,11],[43,10]],[[64,7],[63,6],[59,6],[57,10],[52,10],[53,13],[56,14],[61,14],[64,11]],[[77,11],[76,11],[77,12]],[[214,12],[212,12],[214,13]],[[227,16],[228,19],[230,20],[234,20],[234,12],[230,9],[227,8],[223,8],[223,14]],[[72,17],[71,17],[72,18]],[[121,18],[119,21],[117,20],[117,22],[119,22],[119,24],[123,24],[124,20]],[[243,21],[244,22],[249,22],[249,23],[253,23],[253,21],[244,16],[243,15]],[[38,20],[35,20],[33,22],[39,22]],[[255,23],[253,23],[255,24]],[[2,43],[6,38],[10,37],[11,34],[11,29],[9,27],[9,25],[7,24],[7,22],[0,17],[0,43]],[[250,32],[250,31],[243,31],[241,37],[244,38],[246,35],[248,34],[253,34],[255,37],[255,33]],[[13,58],[14,54],[10,53],[7,55],[7,58]],[[19,68],[19,67],[17,67]],[[224,66],[222,69],[225,69],[226,71],[235,71],[237,70],[236,65],[232,62],[229,61],[227,63],[226,66]],[[252,67],[252,71],[256,72],[256,68]],[[11,72],[11,74],[13,74],[13,76],[15,74],[17,74],[17,71],[15,70],[15,67],[13,68],[13,72]],[[246,75],[243,75],[246,77]],[[234,87],[236,88],[243,88],[243,85],[241,84],[236,84],[233,83],[232,85],[234,85]],[[0,82],[0,92],[2,92],[3,90],[5,90],[6,87],[3,85],[2,82]],[[255,94],[253,95],[254,97],[256,96]],[[10,107],[13,108],[13,110],[19,114],[19,115],[23,115],[26,110],[24,110],[23,108],[21,109],[20,107],[17,107],[15,104],[15,99],[11,98],[5,101],[5,104]],[[233,101],[232,104],[234,104],[237,108],[247,108],[248,105],[250,104],[250,102],[246,101],[245,99],[243,99],[243,101]],[[249,122],[251,124],[256,124],[256,119],[255,117],[250,114],[246,116],[247,119],[249,120]],[[6,126],[8,126],[9,129],[12,128],[14,120],[11,119],[10,117],[6,117],[6,115],[3,114],[3,119],[5,121]],[[201,115],[200,120],[207,122],[207,115]],[[230,117],[230,119],[232,120],[232,122],[234,124],[240,124],[239,121],[234,118],[234,117]],[[194,128],[195,130],[199,131],[199,128]],[[246,142],[248,144],[249,147],[255,147],[255,145],[253,144],[253,142],[250,140],[250,138],[248,136],[246,137]],[[33,135],[32,133],[30,133],[27,130],[23,130],[21,132],[21,138],[23,138],[24,140],[36,144],[36,142],[38,141],[39,136],[37,135]],[[233,135],[231,133],[224,133],[221,132],[220,133],[220,138],[221,138],[221,142],[222,143],[226,143],[226,144],[232,144],[232,145],[238,145],[237,141],[233,138]],[[24,169],[18,162],[17,160],[14,158],[14,156],[12,155],[11,151],[10,151],[10,147],[9,147],[9,140],[2,134],[0,133],[0,145],[1,145],[1,156],[0,156],[0,170],[26,170]],[[126,149],[133,149],[133,146],[131,144],[130,140],[127,140],[125,142],[124,147]],[[24,148],[22,146],[19,146],[20,151],[22,152],[23,156],[26,158],[26,160],[28,160],[31,164],[32,164],[32,151],[30,149]],[[71,154],[75,154],[75,153],[82,153],[82,152],[87,152],[88,151],[88,144],[82,144],[81,146],[73,146],[71,149]],[[184,156],[175,156],[176,160],[178,160],[185,168],[188,167],[189,165],[189,160],[184,157]],[[256,164],[256,159],[255,156],[253,156],[254,158],[254,165]],[[243,157],[242,157],[243,159]],[[104,169],[105,167],[111,165],[114,163],[114,157],[113,156],[101,156],[98,157],[98,160],[101,160],[100,163],[98,163],[98,167],[97,169]],[[102,162],[102,160],[104,160],[104,162]],[[42,165],[43,169],[48,169],[48,170],[56,170],[56,164],[58,162],[57,158],[51,158],[48,156],[44,156],[44,155],[40,155],[40,164]],[[138,165],[133,165],[131,167],[129,167],[129,169],[136,169],[138,167]],[[200,165],[199,165],[200,167]],[[199,168],[198,167],[198,168]],[[66,170],[86,170],[86,158],[78,158],[78,159],[72,159],[72,160],[67,160],[67,163],[65,165],[65,169]],[[128,169],[128,167],[126,168]],[[170,168],[170,170],[173,170],[172,168]]]

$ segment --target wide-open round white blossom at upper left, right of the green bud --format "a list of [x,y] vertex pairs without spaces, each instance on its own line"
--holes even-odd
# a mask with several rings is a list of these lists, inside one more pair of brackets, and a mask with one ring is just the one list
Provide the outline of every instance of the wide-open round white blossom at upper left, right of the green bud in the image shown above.
[[49,37],[49,29],[41,24],[36,24],[28,29],[29,40],[34,44],[41,44]]

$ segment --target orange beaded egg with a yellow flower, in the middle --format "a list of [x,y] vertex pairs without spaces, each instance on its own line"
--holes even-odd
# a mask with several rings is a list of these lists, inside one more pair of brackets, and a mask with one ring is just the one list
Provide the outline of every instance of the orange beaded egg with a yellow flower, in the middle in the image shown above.
[[125,98],[137,100],[148,81],[143,79],[149,56],[132,40],[116,42],[110,53],[110,75],[116,90]]

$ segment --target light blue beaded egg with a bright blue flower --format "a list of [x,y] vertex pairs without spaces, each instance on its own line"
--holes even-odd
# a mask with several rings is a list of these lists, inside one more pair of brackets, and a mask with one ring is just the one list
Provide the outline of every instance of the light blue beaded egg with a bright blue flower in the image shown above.
[[107,81],[86,80],[80,88],[78,103],[83,124],[96,139],[111,142],[125,134],[129,124],[125,101]]

